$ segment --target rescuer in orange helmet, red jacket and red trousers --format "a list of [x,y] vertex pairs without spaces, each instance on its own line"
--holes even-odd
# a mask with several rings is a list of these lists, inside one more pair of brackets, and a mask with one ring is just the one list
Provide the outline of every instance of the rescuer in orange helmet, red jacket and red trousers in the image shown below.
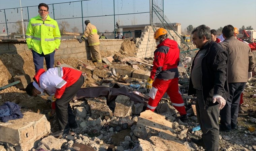
[[146,83],[147,89],[150,89],[147,109],[154,111],[164,93],[167,92],[174,108],[180,112],[181,121],[186,122],[187,113],[178,86],[180,61],[178,44],[167,38],[167,31],[163,28],[156,30],[154,38],[157,49],[154,52],[153,68]]

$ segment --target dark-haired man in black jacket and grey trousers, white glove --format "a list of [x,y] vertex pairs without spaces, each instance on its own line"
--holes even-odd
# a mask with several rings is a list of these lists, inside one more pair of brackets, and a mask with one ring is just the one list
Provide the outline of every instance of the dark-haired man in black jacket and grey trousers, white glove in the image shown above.
[[219,112],[228,97],[228,54],[211,40],[205,25],[193,30],[193,44],[199,48],[191,68],[188,95],[196,94],[196,114],[203,132],[202,139],[191,138],[206,151],[219,150]]

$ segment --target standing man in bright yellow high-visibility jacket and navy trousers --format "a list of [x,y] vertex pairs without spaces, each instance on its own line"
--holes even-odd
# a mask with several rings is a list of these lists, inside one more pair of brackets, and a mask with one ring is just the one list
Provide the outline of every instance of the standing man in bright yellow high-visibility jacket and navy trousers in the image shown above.
[[26,42],[32,51],[36,72],[43,68],[43,58],[47,69],[54,67],[54,54],[61,40],[57,21],[48,15],[48,5],[40,3],[38,13],[29,20],[26,32]]

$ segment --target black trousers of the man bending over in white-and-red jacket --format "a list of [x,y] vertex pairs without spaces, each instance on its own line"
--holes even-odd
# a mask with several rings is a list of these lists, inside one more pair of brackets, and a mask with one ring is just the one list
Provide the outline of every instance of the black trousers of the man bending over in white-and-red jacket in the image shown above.
[[59,130],[67,129],[69,128],[69,125],[75,123],[75,115],[72,112],[69,102],[73,99],[83,84],[84,76],[81,74],[80,78],[73,85],[65,89],[61,98],[56,100],[56,115]]

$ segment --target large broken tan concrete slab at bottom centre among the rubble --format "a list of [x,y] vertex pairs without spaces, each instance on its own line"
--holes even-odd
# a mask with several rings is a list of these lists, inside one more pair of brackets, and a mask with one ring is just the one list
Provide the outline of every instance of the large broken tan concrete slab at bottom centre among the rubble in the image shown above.
[[[133,133],[140,139],[150,138],[152,145],[162,148],[164,145],[168,151],[188,151],[188,148],[173,135],[172,122],[167,121],[164,116],[150,110],[140,113],[136,128]],[[160,145],[161,144],[161,145]]]

